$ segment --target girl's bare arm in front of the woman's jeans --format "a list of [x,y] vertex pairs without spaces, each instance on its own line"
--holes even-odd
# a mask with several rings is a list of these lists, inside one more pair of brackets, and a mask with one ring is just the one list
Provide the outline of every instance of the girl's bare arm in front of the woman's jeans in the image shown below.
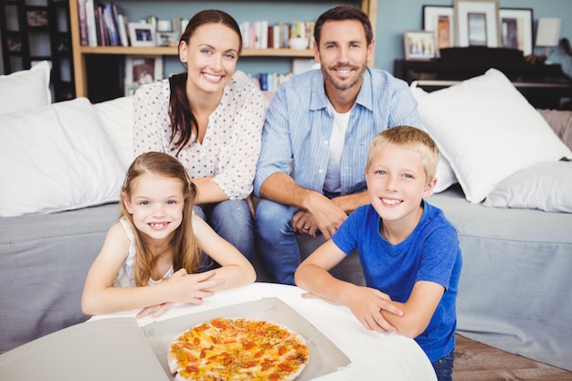
[[224,280],[223,283],[208,288],[208,291],[228,290],[256,280],[256,271],[249,259],[237,248],[220,237],[202,218],[193,216],[193,224],[200,248],[220,265],[220,268],[212,270],[215,272],[214,278]]

